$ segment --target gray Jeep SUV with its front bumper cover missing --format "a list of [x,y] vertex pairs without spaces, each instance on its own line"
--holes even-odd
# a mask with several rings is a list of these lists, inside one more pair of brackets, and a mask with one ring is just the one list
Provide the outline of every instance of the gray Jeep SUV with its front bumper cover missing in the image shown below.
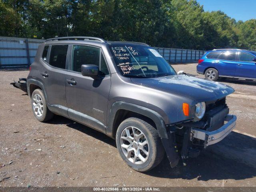
[[152,47],[93,37],[40,44],[27,78],[34,116],[70,118],[116,139],[134,170],[196,157],[236,125],[224,84],[177,74]]

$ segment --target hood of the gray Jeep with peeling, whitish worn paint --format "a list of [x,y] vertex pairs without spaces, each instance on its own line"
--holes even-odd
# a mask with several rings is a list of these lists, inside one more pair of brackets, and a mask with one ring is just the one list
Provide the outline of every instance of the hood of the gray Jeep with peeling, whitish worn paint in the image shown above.
[[213,101],[234,92],[230,86],[186,75],[131,78],[132,82],[189,97],[197,102]]

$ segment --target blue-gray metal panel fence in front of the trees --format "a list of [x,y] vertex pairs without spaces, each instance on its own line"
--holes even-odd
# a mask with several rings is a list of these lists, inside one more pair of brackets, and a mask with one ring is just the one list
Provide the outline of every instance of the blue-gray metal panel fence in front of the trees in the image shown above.
[[[0,36],[0,68],[24,68],[34,62],[38,45],[42,39],[13,38]],[[155,49],[168,62],[193,62],[205,53],[203,50],[188,50],[175,48]]]

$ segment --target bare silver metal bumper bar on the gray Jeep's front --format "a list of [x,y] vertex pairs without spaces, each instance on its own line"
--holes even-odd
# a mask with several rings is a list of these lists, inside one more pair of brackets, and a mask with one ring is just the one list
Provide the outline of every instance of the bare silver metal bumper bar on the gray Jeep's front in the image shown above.
[[225,118],[227,122],[219,129],[209,132],[197,128],[192,128],[191,133],[193,138],[204,140],[204,147],[220,142],[224,139],[235,127],[236,127],[236,116],[228,114]]

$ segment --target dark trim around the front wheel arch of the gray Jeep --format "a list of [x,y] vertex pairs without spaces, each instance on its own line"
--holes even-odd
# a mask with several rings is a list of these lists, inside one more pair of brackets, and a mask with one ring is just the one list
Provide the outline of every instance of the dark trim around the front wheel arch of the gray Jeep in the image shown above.
[[110,112],[108,115],[108,126],[106,127],[107,135],[111,137],[114,136],[113,134],[114,119],[116,116],[116,112],[120,109],[136,112],[138,114],[141,114],[150,118],[156,124],[156,129],[158,131],[159,137],[168,139],[164,120],[158,112],[143,106],[139,106],[139,105],[128,103],[128,102],[122,102],[122,101],[114,102],[110,108]]

